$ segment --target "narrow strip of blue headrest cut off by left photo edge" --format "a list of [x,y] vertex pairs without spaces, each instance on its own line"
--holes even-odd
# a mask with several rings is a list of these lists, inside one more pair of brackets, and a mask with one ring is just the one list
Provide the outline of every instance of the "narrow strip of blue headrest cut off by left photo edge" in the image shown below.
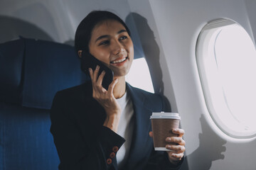
[[24,40],[0,44],[0,101],[21,103]]

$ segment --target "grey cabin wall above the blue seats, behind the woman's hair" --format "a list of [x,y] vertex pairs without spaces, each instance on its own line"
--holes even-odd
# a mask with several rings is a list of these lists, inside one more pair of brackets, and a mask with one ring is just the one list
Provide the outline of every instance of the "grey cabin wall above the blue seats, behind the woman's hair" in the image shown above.
[[23,35],[73,45],[78,24],[92,10],[112,11],[123,20],[130,11],[126,0],[1,0],[0,43]]

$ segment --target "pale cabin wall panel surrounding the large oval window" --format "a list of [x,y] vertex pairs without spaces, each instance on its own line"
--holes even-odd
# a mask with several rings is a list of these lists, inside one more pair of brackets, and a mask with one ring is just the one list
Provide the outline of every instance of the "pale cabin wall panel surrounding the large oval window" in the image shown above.
[[[129,3],[136,6],[137,2]],[[218,18],[238,22],[253,38],[250,18],[255,19],[251,13],[255,13],[252,9],[256,6],[250,6],[250,11],[247,11],[247,2],[238,0],[144,3],[149,4],[151,11],[143,8],[145,4],[136,9],[131,6],[131,10],[142,15],[151,12],[154,16],[146,18],[149,23],[155,24],[154,34],[159,35],[156,39],[162,50],[161,72],[168,70],[171,78],[170,82],[164,77],[164,94],[170,99],[171,106],[176,108],[174,111],[181,114],[181,127],[186,131],[184,139],[188,164],[183,169],[255,169],[255,139],[235,140],[228,137],[210,118],[196,66],[196,40],[203,26]],[[169,87],[174,96],[170,95]]]

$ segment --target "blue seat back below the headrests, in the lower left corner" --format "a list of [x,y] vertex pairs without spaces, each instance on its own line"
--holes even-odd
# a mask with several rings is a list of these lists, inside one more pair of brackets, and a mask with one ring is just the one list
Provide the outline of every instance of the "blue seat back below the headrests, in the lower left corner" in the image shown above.
[[0,102],[0,170],[58,169],[49,114]]

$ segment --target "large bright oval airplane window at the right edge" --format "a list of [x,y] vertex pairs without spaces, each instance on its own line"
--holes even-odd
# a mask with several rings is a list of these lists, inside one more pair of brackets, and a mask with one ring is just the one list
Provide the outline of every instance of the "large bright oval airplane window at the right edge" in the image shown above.
[[256,136],[256,52],[242,26],[221,19],[201,31],[196,49],[208,111],[230,137]]

